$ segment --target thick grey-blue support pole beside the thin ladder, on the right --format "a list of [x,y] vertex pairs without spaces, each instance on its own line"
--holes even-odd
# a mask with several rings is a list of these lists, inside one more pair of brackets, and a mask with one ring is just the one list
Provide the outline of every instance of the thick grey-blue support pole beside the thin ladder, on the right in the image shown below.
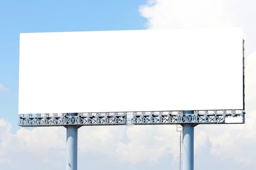
[[[193,114],[194,111],[183,111]],[[194,126],[193,123],[183,124],[182,170],[194,170]]]

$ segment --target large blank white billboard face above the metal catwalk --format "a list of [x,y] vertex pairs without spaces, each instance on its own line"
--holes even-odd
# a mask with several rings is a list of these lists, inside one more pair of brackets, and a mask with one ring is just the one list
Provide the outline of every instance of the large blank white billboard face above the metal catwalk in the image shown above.
[[20,34],[19,114],[243,109],[242,28]]

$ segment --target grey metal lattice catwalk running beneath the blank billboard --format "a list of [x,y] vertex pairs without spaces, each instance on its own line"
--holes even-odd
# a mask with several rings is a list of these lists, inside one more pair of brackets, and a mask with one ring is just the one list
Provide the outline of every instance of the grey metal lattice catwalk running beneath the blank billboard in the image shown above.
[[114,112],[114,113],[67,113],[20,114],[18,125],[22,127],[65,126],[65,125],[181,125],[195,124],[244,124],[243,110],[152,112]]

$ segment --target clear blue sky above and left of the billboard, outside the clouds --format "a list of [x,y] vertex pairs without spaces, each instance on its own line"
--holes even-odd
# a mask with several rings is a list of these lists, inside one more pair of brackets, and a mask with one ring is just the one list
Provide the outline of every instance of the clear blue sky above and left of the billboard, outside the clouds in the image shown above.
[[[19,34],[145,29],[146,0],[0,0],[0,119],[18,122]],[[47,69],[47,68],[46,68]]]

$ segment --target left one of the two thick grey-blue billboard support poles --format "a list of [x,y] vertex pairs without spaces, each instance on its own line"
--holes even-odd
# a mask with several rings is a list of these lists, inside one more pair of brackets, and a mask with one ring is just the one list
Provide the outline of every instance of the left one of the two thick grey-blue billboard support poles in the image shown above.
[[[67,116],[77,116],[77,113],[67,113]],[[75,118],[74,118],[75,119]],[[66,170],[77,170],[77,139],[79,125],[65,126],[67,128],[67,145],[66,145]]]

